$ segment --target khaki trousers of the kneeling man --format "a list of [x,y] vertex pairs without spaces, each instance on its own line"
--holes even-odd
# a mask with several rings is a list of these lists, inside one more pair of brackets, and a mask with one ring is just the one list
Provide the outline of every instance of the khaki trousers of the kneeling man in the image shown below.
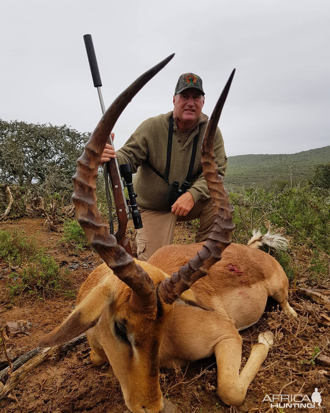
[[174,227],[177,221],[191,221],[200,218],[200,226],[196,232],[195,242],[203,242],[210,235],[214,209],[211,199],[196,202],[189,214],[177,216],[172,212],[139,209],[143,228],[137,230],[133,246],[133,256],[147,261],[151,255],[164,245],[172,244]]

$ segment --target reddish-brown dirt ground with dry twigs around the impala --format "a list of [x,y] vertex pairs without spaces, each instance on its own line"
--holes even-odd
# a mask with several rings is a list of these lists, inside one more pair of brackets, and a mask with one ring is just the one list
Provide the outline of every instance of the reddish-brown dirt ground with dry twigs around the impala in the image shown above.
[[[101,260],[92,250],[72,254],[65,246],[58,243],[61,233],[50,233],[43,223],[44,218],[23,218],[2,222],[0,229],[16,228],[24,230],[26,235],[35,235],[40,245],[47,247],[56,261],[70,270],[70,278],[78,290],[89,272],[101,263]],[[178,225],[175,242],[192,240],[189,228]],[[6,287],[10,273],[10,268],[6,268],[6,265],[0,262],[0,327],[8,322],[19,320],[31,323],[30,328],[26,330],[27,333],[9,337],[5,342],[6,349],[14,360],[37,347],[39,339],[68,316],[75,306],[75,300],[60,298],[53,301],[35,301],[27,297],[20,305],[12,305]],[[327,282],[324,283],[325,285],[313,285],[313,287],[329,290]],[[323,411],[329,409],[330,368],[315,357],[316,347],[321,349],[323,355],[330,356],[329,328],[316,323],[315,318],[306,311],[306,306],[312,306],[317,315],[324,314],[329,317],[330,313],[324,306],[292,290],[289,299],[291,306],[299,315],[297,320],[288,318],[274,302],[270,302],[259,322],[241,332],[243,365],[252,345],[257,343],[260,332],[271,329],[275,334],[273,348],[252,381],[242,406],[230,408],[225,406],[217,396],[217,368],[214,357],[193,363],[184,370],[179,368],[162,370],[160,382],[166,398],[175,403],[178,411],[182,413],[293,412],[305,409],[274,408],[269,401],[263,399],[266,395],[272,397],[273,394],[306,394],[311,399],[315,387],[318,387],[319,391],[325,387],[321,394],[321,406]],[[86,342],[68,351],[59,360],[52,357],[45,361],[31,371],[7,399],[0,402],[0,410],[5,413],[128,412],[118,380],[109,373],[108,366],[94,367],[90,362],[89,353],[90,347]],[[3,349],[0,349],[0,370],[4,367],[4,353]],[[317,408],[306,408],[306,411],[317,411]]]

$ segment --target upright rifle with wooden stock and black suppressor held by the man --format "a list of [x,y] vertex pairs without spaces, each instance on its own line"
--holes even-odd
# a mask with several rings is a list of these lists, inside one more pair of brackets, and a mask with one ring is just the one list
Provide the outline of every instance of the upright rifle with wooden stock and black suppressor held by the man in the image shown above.
[[[101,82],[101,76],[99,72],[99,66],[97,64],[97,59],[95,55],[92,36],[90,34],[85,34],[83,37],[84,37],[88,62],[90,64],[90,71],[92,73],[94,87],[97,88],[97,93],[99,95],[102,114],[104,114],[106,109],[104,107],[103,97],[101,93],[102,82]],[[113,146],[111,135],[109,136],[108,143]],[[125,191],[124,191],[124,184],[120,176],[118,161],[116,158],[110,159],[110,161],[104,164],[104,179],[105,179],[106,188],[108,185],[108,175],[110,175],[110,179],[111,179],[113,199],[115,201],[115,209],[116,209],[116,214],[118,217],[118,230],[115,232],[114,235],[116,237],[118,244],[121,245],[128,254],[133,255],[130,241],[128,240],[125,234],[126,227],[127,227],[127,221],[128,221],[129,214],[130,214],[130,209],[127,205]],[[109,211],[109,214],[111,216],[111,209]],[[141,217],[140,217],[140,220],[141,220]],[[110,222],[110,228],[111,228],[111,224],[112,222]],[[112,224],[111,229],[113,233],[113,224]]]

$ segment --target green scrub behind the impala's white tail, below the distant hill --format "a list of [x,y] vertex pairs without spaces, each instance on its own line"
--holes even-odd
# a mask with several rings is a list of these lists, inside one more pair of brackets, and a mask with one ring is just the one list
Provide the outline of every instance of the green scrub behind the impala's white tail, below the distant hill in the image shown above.
[[[302,271],[316,278],[324,277],[329,271],[329,195],[329,190],[310,185],[285,187],[281,191],[249,188],[231,193],[236,225],[233,241],[246,244],[253,228],[259,228],[262,233],[268,229],[280,232],[289,239],[291,248],[287,252],[272,251],[271,254],[281,263],[288,277]],[[295,258],[301,248],[310,259],[304,268]]]

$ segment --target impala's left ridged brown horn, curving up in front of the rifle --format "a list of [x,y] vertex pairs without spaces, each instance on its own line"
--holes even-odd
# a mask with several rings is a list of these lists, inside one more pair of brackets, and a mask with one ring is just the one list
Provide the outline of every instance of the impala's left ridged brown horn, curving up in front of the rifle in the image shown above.
[[125,249],[118,245],[101,220],[96,197],[97,171],[101,154],[120,114],[139,90],[163,69],[173,56],[174,54],[170,55],[146,71],[113,101],[86,143],[84,153],[78,159],[77,172],[73,176],[72,200],[87,239],[113,273],[132,289],[129,302],[134,311],[144,313],[152,311],[156,306],[156,290],[146,271],[136,265]]

